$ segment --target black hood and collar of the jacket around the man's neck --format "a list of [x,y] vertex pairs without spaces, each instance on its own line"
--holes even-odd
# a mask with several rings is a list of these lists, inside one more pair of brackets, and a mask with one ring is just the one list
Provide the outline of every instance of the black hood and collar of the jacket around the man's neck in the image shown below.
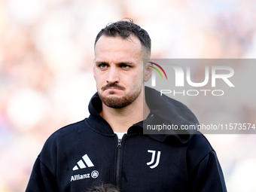
[[[163,122],[175,124],[179,127],[181,125],[199,124],[197,117],[181,102],[171,99],[168,96],[160,96],[160,92],[149,87],[145,87],[145,98],[148,107],[151,109],[153,117],[149,117],[144,122],[134,124],[128,130],[128,134],[143,133],[143,125],[154,124],[156,122]],[[108,122],[102,118],[99,113],[102,111],[102,101],[99,99],[98,93],[95,93],[90,99],[89,104],[90,117],[87,122],[90,128],[105,136],[114,136],[114,132]],[[177,132],[173,130],[166,134],[148,134],[149,137],[159,142],[166,142],[169,139],[178,139],[182,144],[190,141],[192,136],[197,133],[196,130],[182,130]]]

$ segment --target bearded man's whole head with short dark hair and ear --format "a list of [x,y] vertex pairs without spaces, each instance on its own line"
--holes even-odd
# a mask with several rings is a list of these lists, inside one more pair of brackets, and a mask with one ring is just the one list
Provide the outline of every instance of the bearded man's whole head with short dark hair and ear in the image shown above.
[[128,21],[112,23],[99,32],[93,74],[105,105],[123,108],[142,102],[143,83],[151,77],[151,68],[143,65],[145,56],[150,56],[150,42],[144,29]]

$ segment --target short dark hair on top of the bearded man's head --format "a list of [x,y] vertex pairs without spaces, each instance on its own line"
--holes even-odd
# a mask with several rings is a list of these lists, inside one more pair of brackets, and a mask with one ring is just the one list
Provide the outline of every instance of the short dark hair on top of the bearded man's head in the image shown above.
[[146,53],[149,56],[151,55],[151,38],[149,37],[148,32],[133,23],[132,19],[129,19],[129,21],[120,20],[114,23],[109,23],[96,36],[94,47],[102,35],[107,37],[120,37],[123,39],[130,39],[130,35],[135,35],[139,38],[139,41],[141,42],[142,47],[145,48]]

